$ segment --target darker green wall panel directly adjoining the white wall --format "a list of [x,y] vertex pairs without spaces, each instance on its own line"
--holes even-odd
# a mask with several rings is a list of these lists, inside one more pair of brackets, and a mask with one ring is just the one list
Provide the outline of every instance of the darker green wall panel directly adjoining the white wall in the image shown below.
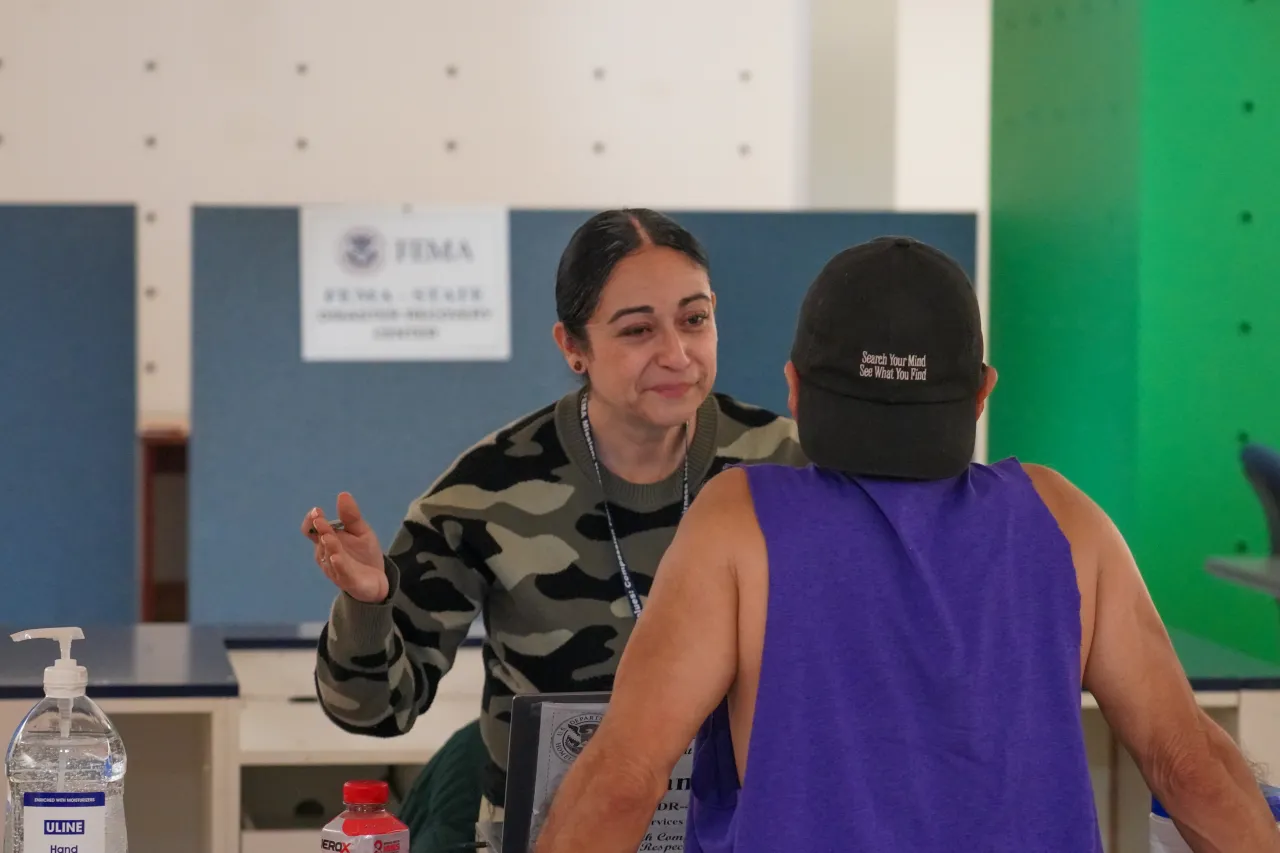
[[991,455],[1053,465],[1130,525],[1138,15],[997,0],[993,26]]

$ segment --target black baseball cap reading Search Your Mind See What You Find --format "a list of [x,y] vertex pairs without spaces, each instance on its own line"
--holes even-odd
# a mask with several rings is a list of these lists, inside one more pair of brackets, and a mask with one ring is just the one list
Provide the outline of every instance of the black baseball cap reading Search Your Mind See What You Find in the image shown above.
[[955,260],[910,237],[846,248],[809,286],[791,346],[801,450],[859,476],[963,473],[982,355],[978,295]]

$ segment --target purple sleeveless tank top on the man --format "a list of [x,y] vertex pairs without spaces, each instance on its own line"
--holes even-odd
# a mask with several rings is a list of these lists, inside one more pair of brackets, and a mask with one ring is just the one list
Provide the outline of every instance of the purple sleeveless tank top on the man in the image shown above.
[[1075,570],[1021,465],[745,470],[769,558],[746,785],[722,704],[686,852],[1101,853]]

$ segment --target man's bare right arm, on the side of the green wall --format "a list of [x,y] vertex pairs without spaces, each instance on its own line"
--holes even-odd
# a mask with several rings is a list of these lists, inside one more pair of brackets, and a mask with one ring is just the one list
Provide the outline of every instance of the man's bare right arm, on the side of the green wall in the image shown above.
[[[1037,485],[1046,476],[1043,469],[1033,473]],[[1280,853],[1258,783],[1197,704],[1124,537],[1083,492],[1048,476],[1073,552],[1097,561],[1084,686],[1196,853]]]

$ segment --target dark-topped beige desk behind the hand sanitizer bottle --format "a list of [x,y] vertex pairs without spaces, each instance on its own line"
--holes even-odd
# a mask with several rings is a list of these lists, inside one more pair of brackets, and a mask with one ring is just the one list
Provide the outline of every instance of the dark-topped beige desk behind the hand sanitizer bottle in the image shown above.
[[[5,738],[44,697],[45,667],[59,657],[52,640],[9,640],[9,634],[28,628],[38,626],[0,628],[0,731]],[[88,669],[87,693],[111,717],[128,753],[129,847],[236,850],[239,772],[232,757],[239,686],[221,634],[187,625],[83,630],[84,639],[72,643],[72,656]],[[3,775],[0,793],[8,797]]]

